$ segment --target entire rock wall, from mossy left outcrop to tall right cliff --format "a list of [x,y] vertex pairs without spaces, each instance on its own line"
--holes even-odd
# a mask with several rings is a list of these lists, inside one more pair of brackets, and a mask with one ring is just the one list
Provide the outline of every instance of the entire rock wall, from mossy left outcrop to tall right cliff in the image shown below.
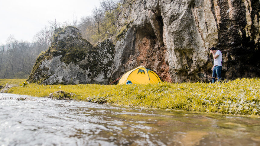
[[209,82],[211,47],[223,53],[223,79],[260,77],[259,0],[128,0],[119,33],[96,47],[74,27],[58,29],[28,81],[108,84],[139,65],[167,82]]

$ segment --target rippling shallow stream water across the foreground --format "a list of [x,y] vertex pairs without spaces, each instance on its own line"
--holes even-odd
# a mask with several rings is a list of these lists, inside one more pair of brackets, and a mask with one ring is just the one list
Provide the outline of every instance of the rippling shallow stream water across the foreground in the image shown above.
[[260,145],[260,119],[0,94],[0,145]]

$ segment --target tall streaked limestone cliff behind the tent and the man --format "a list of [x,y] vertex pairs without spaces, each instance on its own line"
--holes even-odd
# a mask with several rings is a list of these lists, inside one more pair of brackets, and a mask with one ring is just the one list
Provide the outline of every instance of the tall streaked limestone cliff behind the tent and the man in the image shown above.
[[112,78],[144,65],[164,81],[209,82],[213,46],[223,53],[222,78],[259,77],[259,8],[258,0],[128,1]]

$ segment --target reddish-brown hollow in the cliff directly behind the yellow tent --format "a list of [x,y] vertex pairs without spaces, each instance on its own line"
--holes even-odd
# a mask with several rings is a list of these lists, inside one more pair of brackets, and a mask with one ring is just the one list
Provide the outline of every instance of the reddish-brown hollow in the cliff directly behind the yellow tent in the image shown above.
[[[162,34],[163,21],[162,17],[157,17],[159,28]],[[162,35],[160,35],[162,39]],[[158,40],[151,24],[145,24],[143,27],[136,29],[135,56],[137,66],[143,65],[150,68],[164,80],[171,82],[169,75],[169,66],[165,62],[166,47]]]

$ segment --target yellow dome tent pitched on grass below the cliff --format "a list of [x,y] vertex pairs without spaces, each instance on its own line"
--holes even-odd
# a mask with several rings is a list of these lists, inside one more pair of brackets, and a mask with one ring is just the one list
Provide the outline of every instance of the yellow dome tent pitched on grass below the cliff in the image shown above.
[[119,80],[118,84],[126,84],[131,81],[132,84],[157,84],[161,82],[161,78],[151,69],[144,66],[138,66],[131,71],[126,72]]

